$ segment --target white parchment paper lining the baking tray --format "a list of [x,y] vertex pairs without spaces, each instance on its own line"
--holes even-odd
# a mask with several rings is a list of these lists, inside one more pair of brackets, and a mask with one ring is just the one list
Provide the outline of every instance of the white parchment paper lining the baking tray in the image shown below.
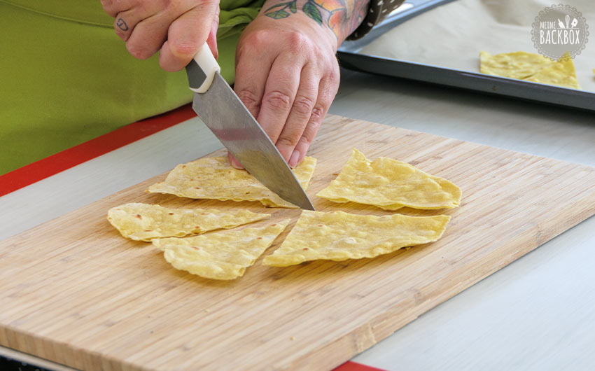
[[573,6],[587,18],[587,45],[574,63],[582,90],[595,92],[594,0],[456,0],[396,26],[360,53],[479,72],[480,50],[536,53],[531,25],[552,3]]

